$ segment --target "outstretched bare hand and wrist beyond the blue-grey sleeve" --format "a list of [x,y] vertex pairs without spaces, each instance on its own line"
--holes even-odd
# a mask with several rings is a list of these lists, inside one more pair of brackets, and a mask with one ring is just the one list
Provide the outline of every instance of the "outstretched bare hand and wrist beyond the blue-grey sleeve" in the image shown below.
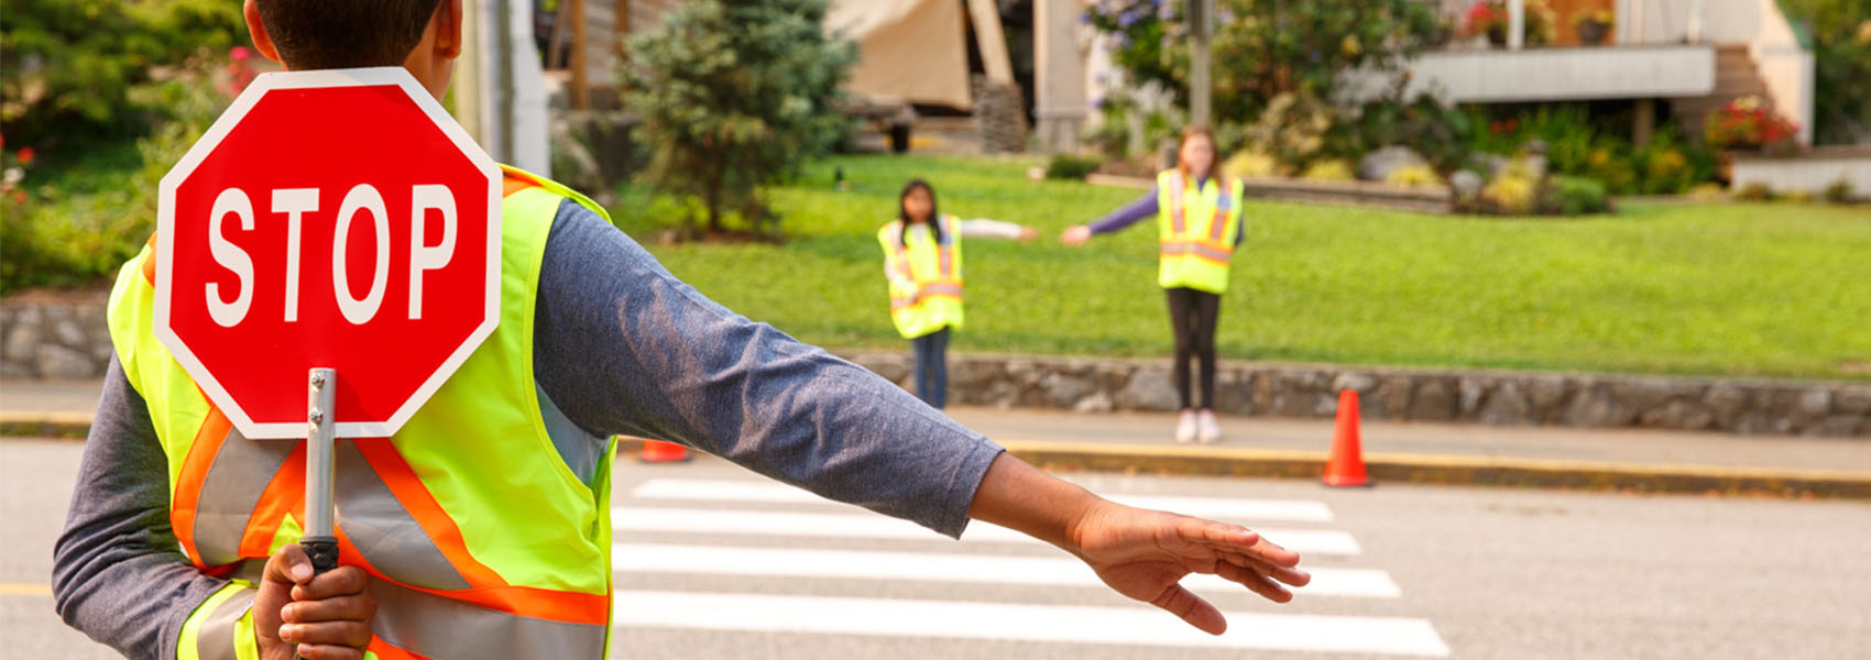
[[1179,585],[1184,576],[1218,574],[1272,602],[1293,600],[1282,583],[1312,581],[1297,568],[1298,553],[1246,527],[1124,507],[1005,452],[988,466],[967,514],[1059,546],[1117,593],[1164,608],[1209,634],[1227,630],[1227,621]]

